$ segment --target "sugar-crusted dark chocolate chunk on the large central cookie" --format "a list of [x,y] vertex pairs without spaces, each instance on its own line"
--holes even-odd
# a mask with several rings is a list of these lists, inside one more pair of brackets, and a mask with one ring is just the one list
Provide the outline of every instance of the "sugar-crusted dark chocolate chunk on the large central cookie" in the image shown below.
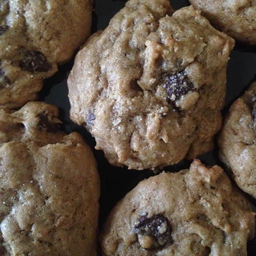
[[163,87],[167,92],[167,100],[178,100],[182,95],[188,92],[196,91],[193,82],[191,82],[185,71],[176,74],[165,74],[163,76]]

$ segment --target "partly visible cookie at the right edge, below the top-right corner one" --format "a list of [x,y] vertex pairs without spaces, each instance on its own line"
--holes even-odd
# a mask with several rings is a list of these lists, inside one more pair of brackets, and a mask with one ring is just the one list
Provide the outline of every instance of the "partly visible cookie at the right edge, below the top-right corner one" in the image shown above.
[[238,186],[256,198],[256,82],[231,105],[218,144]]

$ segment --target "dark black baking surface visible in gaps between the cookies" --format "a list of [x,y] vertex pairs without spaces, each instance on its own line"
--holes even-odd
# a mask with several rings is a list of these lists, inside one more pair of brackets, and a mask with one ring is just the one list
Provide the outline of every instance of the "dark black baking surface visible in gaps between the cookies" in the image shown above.
[[[104,29],[109,24],[109,20],[125,5],[124,0],[95,0],[93,12],[92,33]],[[188,6],[186,0],[170,1],[175,9]],[[127,191],[131,190],[140,180],[147,178],[153,173],[150,170],[128,170],[111,166],[104,158],[101,151],[95,151],[95,141],[92,136],[81,126],[75,125],[69,119],[70,104],[68,100],[67,78],[72,68],[73,60],[59,67],[57,74],[45,81],[44,89],[40,92],[39,100],[46,101],[58,106],[60,119],[63,122],[63,129],[67,132],[77,131],[84,136],[84,139],[91,145],[98,162],[98,169],[101,179],[101,198],[99,226],[101,227],[106,216],[112,207],[120,200]],[[230,54],[227,69],[227,95],[226,106],[223,115],[228,111],[230,104],[237,99],[256,80],[256,47],[243,46],[236,43]],[[202,156],[199,159],[205,164],[219,164],[218,148]],[[189,166],[188,161],[182,161],[175,166],[166,167],[165,170],[178,171]],[[222,166],[223,167],[223,166]],[[252,207],[256,211],[256,200],[250,199]],[[248,255],[256,254],[256,238],[248,242]]]

